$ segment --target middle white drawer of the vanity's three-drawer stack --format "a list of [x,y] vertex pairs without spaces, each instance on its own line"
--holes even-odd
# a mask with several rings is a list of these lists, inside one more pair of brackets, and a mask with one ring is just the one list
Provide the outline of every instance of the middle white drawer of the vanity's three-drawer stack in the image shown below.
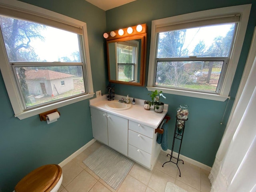
[[140,133],[129,130],[128,143],[143,150],[147,153],[152,153],[152,142],[153,140]]

